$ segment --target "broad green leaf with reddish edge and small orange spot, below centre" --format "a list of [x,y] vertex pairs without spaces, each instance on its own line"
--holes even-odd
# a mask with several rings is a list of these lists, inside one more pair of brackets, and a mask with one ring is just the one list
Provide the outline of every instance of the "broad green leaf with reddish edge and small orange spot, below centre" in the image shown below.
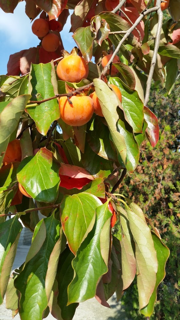
[[86,192],[64,196],[60,206],[61,224],[70,250],[74,254],[92,230],[96,207],[101,204],[102,202],[96,196]]

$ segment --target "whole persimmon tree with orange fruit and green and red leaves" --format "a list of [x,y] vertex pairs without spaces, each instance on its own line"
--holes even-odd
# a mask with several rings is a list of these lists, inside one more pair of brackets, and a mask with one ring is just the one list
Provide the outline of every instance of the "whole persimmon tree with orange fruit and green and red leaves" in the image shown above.
[[[136,169],[142,142],[154,147],[159,139],[150,87],[173,90],[180,2],[25,2],[40,43],[12,54],[0,76],[0,301],[6,294],[6,308],[22,320],[49,312],[70,320],[94,296],[109,307],[136,274],[139,308],[149,318],[169,250],[116,189]],[[0,7],[13,13],[18,3]],[[70,53],[61,40],[69,9],[77,45]],[[122,241],[111,231],[118,215]],[[32,244],[11,275],[20,221]]]

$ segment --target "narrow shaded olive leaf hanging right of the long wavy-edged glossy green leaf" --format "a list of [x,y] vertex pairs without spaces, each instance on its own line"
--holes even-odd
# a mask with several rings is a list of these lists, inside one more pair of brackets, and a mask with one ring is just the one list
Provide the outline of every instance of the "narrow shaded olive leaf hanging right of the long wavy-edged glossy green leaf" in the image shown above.
[[111,281],[108,284],[104,284],[104,293],[106,301],[110,299],[110,297],[114,294],[119,284],[120,264],[116,254],[116,250],[113,245],[111,249],[110,259],[112,261]]

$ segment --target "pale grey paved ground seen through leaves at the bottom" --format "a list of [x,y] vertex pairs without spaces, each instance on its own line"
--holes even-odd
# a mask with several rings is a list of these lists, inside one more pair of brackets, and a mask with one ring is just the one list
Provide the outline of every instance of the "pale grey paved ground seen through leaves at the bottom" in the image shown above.
[[[18,246],[16,258],[12,267],[13,270],[24,262],[28,250],[29,246],[27,245]],[[128,320],[121,304],[117,303],[115,295],[108,300],[108,303],[110,304],[111,309],[100,305],[95,298],[80,303],[73,320]],[[0,306],[0,320],[12,320],[11,310],[5,308],[5,303]],[[19,314],[14,317],[14,320],[20,320]],[[49,315],[46,320],[54,320],[54,317]]]

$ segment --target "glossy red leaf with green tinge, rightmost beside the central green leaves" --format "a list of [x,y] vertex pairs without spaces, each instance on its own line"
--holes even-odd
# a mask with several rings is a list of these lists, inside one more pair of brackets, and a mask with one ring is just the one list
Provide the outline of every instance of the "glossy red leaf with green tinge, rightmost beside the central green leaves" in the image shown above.
[[151,143],[151,147],[155,147],[159,140],[159,124],[157,117],[153,114],[153,112],[147,108],[144,107],[144,119],[147,122],[148,126],[146,129],[146,135]]

